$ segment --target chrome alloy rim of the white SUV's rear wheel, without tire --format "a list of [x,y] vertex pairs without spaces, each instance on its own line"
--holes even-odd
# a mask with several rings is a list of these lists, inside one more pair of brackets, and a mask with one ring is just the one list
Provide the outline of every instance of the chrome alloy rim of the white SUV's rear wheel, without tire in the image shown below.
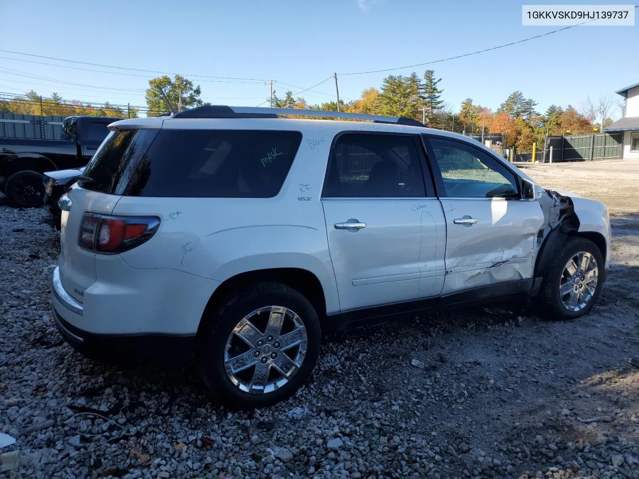
[[295,312],[281,306],[259,308],[233,328],[224,349],[224,369],[243,392],[270,393],[295,376],[306,347],[306,328]]

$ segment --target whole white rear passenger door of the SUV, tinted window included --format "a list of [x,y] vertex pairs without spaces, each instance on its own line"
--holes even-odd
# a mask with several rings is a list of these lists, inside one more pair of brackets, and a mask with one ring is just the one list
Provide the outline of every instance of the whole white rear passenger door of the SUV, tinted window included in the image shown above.
[[445,220],[417,135],[342,133],[322,190],[343,312],[438,296]]

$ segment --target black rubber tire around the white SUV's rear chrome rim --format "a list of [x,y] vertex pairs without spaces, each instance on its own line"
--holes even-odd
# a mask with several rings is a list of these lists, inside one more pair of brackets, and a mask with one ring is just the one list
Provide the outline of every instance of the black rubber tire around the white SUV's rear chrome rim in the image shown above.
[[[286,384],[267,393],[245,392],[233,384],[227,375],[224,366],[227,340],[231,337],[235,326],[245,316],[259,308],[273,305],[288,308],[299,317],[306,332],[306,354],[299,369]],[[258,327],[258,330],[261,333],[265,332],[264,328]],[[283,328],[282,331],[284,331]],[[224,305],[203,318],[197,337],[196,362],[204,383],[216,399],[233,409],[255,409],[272,406],[288,399],[302,387],[311,376],[318,360],[320,344],[321,328],[318,315],[311,303],[287,285],[263,283],[234,292],[227,298]],[[243,343],[241,346],[247,348],[247,351],[254,351],[254,353],[258,351]],[[259,352],[259,354],[262,353]],[[270,360],[267,359],[267,361],[270,363]],[[255,371],[253,367],[249,367],[246,371],[252,376],[251,370]],[[277,374],[274,368],[272,372]]]

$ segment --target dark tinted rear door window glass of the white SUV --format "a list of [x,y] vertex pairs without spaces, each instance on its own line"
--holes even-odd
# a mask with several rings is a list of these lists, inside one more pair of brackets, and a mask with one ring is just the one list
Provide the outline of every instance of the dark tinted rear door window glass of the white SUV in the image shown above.
[[322,196],[426,196],[415,137],[380,133],[339,136],[331,153]]

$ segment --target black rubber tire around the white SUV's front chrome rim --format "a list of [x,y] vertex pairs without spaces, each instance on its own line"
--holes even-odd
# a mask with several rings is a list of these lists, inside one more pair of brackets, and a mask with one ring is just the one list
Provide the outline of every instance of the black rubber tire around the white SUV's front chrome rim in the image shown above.
[[[574,255],[580,252],[587,252],[592,255],[597,263],[597,285],[594,293],[585,301],[585,306],[580,310],[569,310],[564,306],[560,294],[560,285],[564,278],[564,268]],[[601,281],[604,277],[604,259],[601,251],[595,243],[589,239],[580,238],[579,236],[569,236],[566,243],[559,248],[557,255],[552,260],[548,272],[544,276],[541,290],[539,291],[539,300],[541,300],[541,312],[544,319],[554,319],[558,321],[566,321],[584,316],[592,310],[601,294]]]

